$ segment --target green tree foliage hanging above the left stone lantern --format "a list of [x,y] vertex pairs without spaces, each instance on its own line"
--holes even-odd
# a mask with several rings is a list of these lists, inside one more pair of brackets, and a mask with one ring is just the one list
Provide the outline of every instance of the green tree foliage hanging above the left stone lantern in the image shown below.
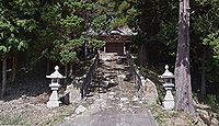
[[88,43],[85,33],[90,24],[97,31],[102,26],[99,24],[104,22],[91,15],[91,12],[95,11],[94,8],[95,4],[89,1],[58,0],[42,9],[42,20],[48,24],[43,27],[44,32],[41,34],[49,41],[45,42],[49,48],[47,57],[60,60],[64,65],[78,59],[78,53],[84,43]]

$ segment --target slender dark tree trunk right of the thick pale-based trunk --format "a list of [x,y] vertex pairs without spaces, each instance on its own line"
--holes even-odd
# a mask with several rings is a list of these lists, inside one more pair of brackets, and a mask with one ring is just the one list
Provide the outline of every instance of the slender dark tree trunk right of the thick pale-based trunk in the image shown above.
[[203,61],[201,61],[201,88],[200,88],[200,95],[201,102],[206,100],[206,70],[205,70],[205,59],[206,59],[206,51],[203,54]]

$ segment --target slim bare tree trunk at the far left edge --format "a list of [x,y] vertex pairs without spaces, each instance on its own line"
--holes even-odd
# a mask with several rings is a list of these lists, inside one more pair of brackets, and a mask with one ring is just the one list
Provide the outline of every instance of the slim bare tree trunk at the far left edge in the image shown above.
[[2,87],[1,87],[1,96],[5,94],[7,87],[7,55],[2,57]]

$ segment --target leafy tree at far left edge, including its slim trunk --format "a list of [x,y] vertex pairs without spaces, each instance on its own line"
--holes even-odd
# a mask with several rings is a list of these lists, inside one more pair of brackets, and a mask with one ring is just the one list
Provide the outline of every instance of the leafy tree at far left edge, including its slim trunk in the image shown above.
[[[26,8],[20,7],[24,4],[21,2],[23,1],[0,1],[0,57],[2,59],[1,96],[5,94],[7,88],[8,55],[12,53],[12,50],[18,51],[26,49],[28,44],[27,35],[34,28],[32,19],[23,20],[20,18],[22,15],[21,12],[28,12],[25,10]],[[25,14],[27,15],[27,13]]]

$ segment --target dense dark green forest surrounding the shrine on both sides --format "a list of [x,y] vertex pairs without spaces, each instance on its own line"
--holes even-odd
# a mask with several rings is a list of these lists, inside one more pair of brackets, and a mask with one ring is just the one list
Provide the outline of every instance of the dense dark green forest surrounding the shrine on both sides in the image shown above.
[[[219,99],[219,1],[191,1],[191,75],[199,100]],[[132,28],[134,54],[159,73],[174,70],[178,35],[175,0],[0,0],[2,95],[5,82],[41,60],[65,66],[65,73],[104,45],[97,34]],[[93,35],[96,33],[96,35]],[[91,35],[92,34],[92,35]],[[88,49],[88,55],[84,53]],[[44,76],[45,76],[44,75]]]

